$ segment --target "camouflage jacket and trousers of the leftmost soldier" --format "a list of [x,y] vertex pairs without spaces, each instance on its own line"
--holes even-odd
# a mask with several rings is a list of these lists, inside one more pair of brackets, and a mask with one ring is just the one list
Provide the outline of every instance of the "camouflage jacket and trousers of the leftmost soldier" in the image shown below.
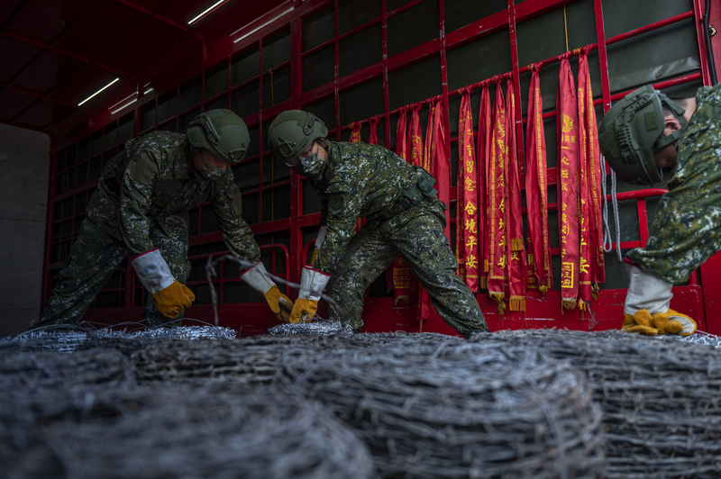
[[[202,203],[213,205],[228,249],[260,261],[260,249],[241,216],[233,172],[214,182],[197,179],[188,168],[188,147],[186,135],[154,131],[127,141],[124,152],[108,161],[41,322],[78,324],[123,258],[151,249],[160,249],[173,276],[185,284],[188,212]],[[148,303],[147,325],[173,321],[155,309],[151,296]]]

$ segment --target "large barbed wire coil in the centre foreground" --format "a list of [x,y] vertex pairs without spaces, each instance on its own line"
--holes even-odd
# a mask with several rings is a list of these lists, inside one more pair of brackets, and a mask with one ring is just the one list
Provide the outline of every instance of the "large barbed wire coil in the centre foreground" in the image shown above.
[[603,435],[584,375],[534,348],[366,336],[284,361],[369,445],[384,477],[598,477]]

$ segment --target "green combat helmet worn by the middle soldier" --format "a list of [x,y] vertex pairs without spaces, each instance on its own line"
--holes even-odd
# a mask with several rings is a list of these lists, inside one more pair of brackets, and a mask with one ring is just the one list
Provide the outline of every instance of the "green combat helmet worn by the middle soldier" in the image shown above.
[[276,157],[296,158],[313,141],[325,138],[327,134],[325,123],[315,114],[302,110],[287,110],[270,123],[268,144]]

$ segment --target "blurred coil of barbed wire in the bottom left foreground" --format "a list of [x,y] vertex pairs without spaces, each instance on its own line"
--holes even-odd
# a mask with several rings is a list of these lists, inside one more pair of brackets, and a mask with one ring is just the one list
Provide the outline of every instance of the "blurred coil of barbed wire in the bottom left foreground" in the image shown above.
[[[14,383],[0,395],[4,477],[376,476],[360,438],[290,388],[217,381],[138,385],[127,376],[117,380],[117,355],[90,349],[23,357],[25,369],[34,361],[43,371],[30,374],[41,380],[33,387],[14,381],[17,366],[0,365],[2,385]],[[73,369],[72,363],[75,374],[56,374]],[[90,374],[93,363],[113,374]]]

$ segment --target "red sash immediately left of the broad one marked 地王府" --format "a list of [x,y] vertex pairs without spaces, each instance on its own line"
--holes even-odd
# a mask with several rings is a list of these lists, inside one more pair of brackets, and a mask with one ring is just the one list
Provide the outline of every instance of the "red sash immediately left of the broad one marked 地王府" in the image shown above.
[[[531,66],[528,92],[525,203],[528,207],[528,288],[546,293],[553,288],[551,244],[548,236],[546,140],[543,131],[540,66]],[[531,253],[533,251],[533,253]]]

